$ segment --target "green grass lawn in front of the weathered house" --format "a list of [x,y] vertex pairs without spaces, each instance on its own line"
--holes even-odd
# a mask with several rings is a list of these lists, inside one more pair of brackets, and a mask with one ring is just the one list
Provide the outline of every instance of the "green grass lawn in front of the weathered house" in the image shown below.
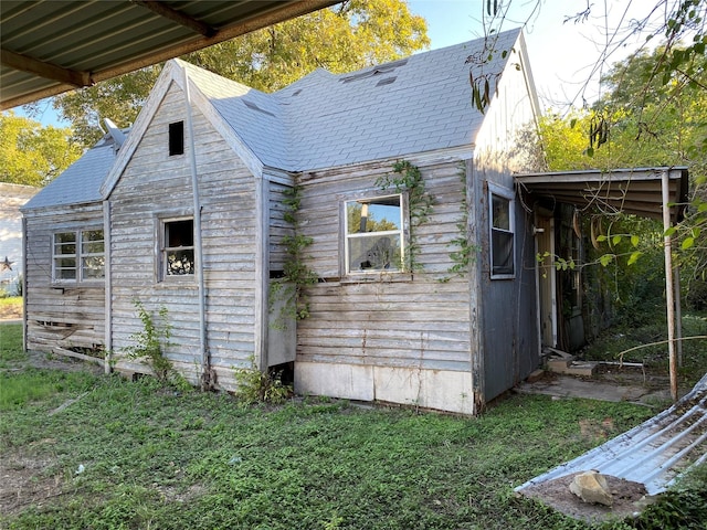
[[[314,398],[245,406],[151,379],[9,371],[21,359],[7,327],[8,529],[584,529],[513,488],[655,412],[527,395],[477,418]],[[667,505],[601,528],[705,528],[698,471]]]

